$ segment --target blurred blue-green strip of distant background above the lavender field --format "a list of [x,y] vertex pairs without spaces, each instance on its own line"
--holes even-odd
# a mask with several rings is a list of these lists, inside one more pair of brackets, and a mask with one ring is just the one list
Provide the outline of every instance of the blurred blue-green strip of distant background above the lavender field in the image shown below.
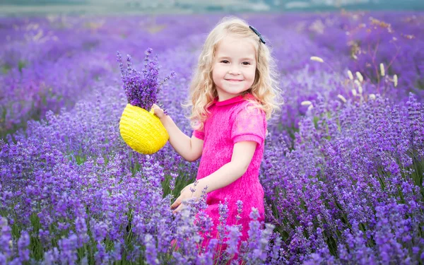
[[1,0],[0,14],[424,10],[423,0]]

